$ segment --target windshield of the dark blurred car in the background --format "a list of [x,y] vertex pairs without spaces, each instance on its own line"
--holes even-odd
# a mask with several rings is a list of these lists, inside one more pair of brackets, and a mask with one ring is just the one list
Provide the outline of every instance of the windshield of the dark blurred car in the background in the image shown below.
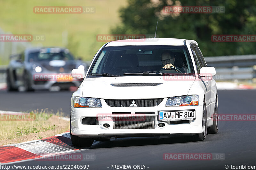
[[28,62],[40,62],[51,60],[74,60],[70,53],[65,52],[35,52],[28,54]]

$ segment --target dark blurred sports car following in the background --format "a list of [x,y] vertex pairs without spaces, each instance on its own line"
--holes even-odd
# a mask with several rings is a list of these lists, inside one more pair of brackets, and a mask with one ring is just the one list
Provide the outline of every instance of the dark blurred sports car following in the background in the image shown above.
[[79,86],[81,81],[71,77],[71,70],[88,66],[81,60],[75,60],[66,48],[27,48],[18,55],[12,55],[7,67],[7,89],[18,90],[24,86],[25,91],[49,89],[59,86],[68,89]]

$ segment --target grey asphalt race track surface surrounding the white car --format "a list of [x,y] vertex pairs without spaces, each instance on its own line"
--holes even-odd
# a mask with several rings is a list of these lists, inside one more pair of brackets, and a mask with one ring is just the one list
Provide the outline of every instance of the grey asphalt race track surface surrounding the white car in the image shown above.
[[[27,111],[36,108],[69,114],[72,92],[0,92],[1,110]],[[256,90],[218,91],[219,114],[255,114]],[[111,165],[146,165],[145,169],[228,169],[232,166],[256,166],[256,122],[221,121],[219,132],[208,134],[205,141],[191,137],[117,138],[99,142],[73,153],[95,154],[94,161],[28,160],[15,165],[90,165],[89,169],[113,169]],[[69,152],[70,153],[70,152]],[[164,153],[224,153],[225,160],[164,160]],[[133,169],[133,168],[132,168]]]

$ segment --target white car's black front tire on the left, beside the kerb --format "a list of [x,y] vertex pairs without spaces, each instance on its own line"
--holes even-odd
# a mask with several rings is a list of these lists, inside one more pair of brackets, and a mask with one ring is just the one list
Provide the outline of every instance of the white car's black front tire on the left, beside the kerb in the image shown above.
[[92,146],[93,143],[93,139],[90,138],[83,138],[83,137],[78,137],[78,136],[74,136],[71,133],[71,118],[70,118],[70,138],[71,138],[71,142],[74,146],[77,147],[90,147]]

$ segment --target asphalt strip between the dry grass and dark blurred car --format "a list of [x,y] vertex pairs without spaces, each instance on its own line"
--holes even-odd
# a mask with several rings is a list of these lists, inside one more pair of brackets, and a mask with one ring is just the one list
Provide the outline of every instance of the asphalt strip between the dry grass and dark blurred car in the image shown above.
[[73,92],[49,92],[40,90],[35,92],[7,92],[0,91],[0,110],[15,112],[30,112],[46,109],[48,112],[63,112],[64,116],[70,115],[70,101]]

